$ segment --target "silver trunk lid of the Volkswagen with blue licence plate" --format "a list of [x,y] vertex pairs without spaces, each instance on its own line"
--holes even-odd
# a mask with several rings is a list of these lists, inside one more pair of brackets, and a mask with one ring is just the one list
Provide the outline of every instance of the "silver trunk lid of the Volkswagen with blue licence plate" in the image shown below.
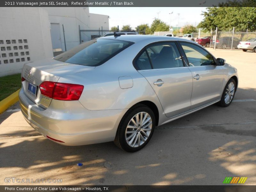
[[[24,93],[43,108],[48,108],[52,98],[41,94],[39,85],[44,81],[58,82],[60,77],[82,71],[90,71],[95,67],[65,63],[54,59],[46,59],[36,62],[25,63],[21,76],[25,78],[22,82]],[[32,90],[32,91],[31,91]]]

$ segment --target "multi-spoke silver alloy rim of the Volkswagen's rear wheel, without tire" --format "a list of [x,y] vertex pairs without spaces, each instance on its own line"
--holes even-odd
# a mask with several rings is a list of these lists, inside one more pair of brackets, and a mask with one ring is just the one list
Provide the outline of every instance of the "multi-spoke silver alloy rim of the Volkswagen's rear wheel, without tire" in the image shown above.
[[133,148],[141,146],[148,140],[152,130],[152,119],[147,112],[137,113],[129,121],[125,130],[126,143]]

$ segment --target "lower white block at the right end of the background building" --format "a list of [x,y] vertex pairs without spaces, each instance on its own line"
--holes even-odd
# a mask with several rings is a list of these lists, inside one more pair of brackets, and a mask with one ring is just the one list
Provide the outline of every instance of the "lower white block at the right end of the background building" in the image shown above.
[[109,30],[108,15],[90,13],[90,28]]

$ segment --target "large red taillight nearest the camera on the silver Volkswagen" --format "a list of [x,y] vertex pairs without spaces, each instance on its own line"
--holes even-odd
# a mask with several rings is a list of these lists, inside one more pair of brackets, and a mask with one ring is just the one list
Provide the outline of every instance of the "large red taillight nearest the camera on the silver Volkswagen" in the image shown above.
[[83,90],[83,85],[56,83],[51,81],[44,81],[40,84],[40,91],[42,95],[56,100],[79,100]]

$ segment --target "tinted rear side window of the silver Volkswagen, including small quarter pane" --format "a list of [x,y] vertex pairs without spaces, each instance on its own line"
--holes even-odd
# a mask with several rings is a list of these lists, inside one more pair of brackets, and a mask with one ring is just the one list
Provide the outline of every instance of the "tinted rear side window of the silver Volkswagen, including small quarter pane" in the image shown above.
[[183,67],[180,52],[174,42],[150,45],[135,60],[137,70]]

